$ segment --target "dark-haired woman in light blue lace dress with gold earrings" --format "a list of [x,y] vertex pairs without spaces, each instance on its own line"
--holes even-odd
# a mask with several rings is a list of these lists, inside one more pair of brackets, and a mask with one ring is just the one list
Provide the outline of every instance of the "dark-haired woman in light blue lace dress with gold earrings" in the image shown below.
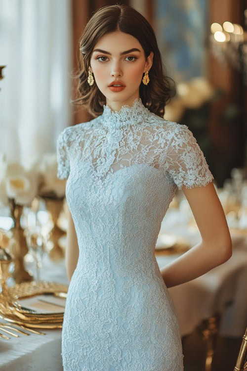
[[[81,103],[93,115],[57,141],[68,178],[64,370],[181,371],[168,287],[227,261],[231,238],[206,159],[186,125],[166,121],[171,85],[154,31],[132,7],[100,8],[80,44]],[[154,250],[177,190],[202,242],[160,271]]]

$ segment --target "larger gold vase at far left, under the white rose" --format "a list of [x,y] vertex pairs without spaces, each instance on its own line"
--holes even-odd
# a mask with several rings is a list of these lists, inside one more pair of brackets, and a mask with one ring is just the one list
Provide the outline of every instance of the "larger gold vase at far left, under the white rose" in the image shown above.
[[32,281],[33,277],[24,267],[24,257],[28,253],[28,246],[24,230],[20,224],[23,205],[18,205],[15,203],[14,198],[9,198],[9,206],[11,217],[14,221],[14,227],[10,230],[12,232],[12,241],[9,246],[14,262],[14,271],[12,276],[16,283]]

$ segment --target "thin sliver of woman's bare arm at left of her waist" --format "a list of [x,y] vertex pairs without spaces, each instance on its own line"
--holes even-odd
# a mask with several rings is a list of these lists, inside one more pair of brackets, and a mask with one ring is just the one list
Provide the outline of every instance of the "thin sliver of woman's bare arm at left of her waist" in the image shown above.
[[69,207],[66,208],[66,215],[68,218],[68,230],[67,230],[67,244],[65,250],[65,265],[67,276],[70,282],[71,277],[73,276],[73,273],[77,266],[79,257],[79,247],[75,225]]

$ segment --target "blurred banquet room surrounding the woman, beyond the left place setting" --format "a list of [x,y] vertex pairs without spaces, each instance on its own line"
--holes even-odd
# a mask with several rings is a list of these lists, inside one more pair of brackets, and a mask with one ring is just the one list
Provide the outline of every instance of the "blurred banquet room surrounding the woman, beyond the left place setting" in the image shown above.
[[[11,263],[2,253],[10,263],[4,279],[67,283],[66,182],[56,178],[56,140],[92,119],[70,102],[79,40],[93,12],[116,3],[141,12],[156,33],[177,88],[164,118],[197,139],[233,240],[223,267],[170,290],[185,371],[230,371],[247,325],[247,0],[0,0],[0,249],[12,253]],[[160,267],[198,238],[177,192],[157,242]]]

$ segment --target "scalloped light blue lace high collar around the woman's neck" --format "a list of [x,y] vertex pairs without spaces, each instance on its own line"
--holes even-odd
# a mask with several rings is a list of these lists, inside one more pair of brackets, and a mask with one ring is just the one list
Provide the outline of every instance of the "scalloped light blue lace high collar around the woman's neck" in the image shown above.
[[117,129],[141,123],[149,113],[149,109],[144,106],[141,98],[135,98],[132,106],[124,104],[120,111],[112,111],[107,104],[104,104],[101,120],[104,126]]

